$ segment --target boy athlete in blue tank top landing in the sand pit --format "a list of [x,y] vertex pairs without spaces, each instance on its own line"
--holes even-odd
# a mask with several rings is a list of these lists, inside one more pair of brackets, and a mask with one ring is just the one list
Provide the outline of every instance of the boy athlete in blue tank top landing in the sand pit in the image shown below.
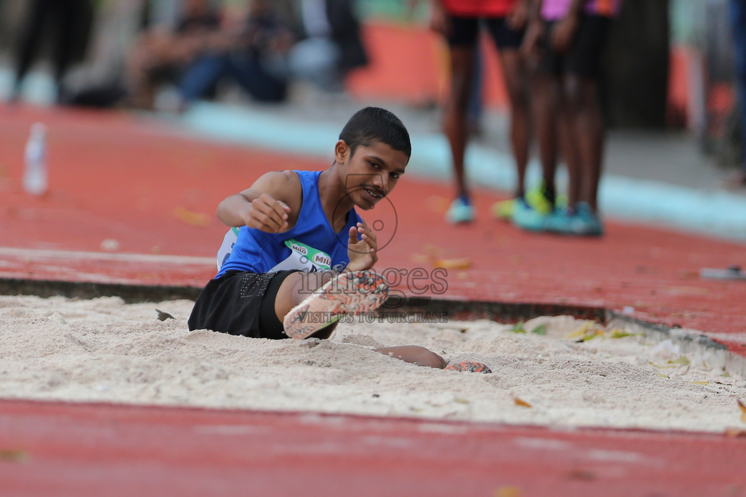
[[[391,193],[410,153],[404,124],[387,110],[366,107],[345,124],[326,171],[269,172],[223,200],[218,218],[238,235],[195,302],[189,329],[328,338],[339,317],[383,304],[388,284],[372,270],[376,237],[356,208],[373,209]],[[423,366],[446,365],[420,346],[376,351]],[[449,366],[484,371],[474,368]]]

